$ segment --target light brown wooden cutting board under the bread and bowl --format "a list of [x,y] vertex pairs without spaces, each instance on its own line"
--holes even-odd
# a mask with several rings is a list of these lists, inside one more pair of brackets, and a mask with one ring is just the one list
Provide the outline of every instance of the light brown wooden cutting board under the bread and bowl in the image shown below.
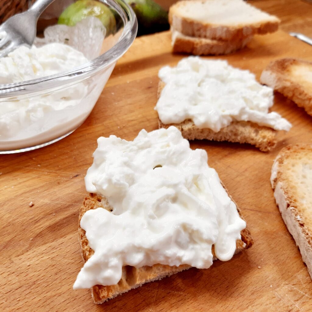
[[[138,38],[120,59],[85,123],[36,151],[0,156],[0,311],[311,311],[312,281],[275,205],[269,178],[287,144],[312,143],[312,117],[283,96],[273,110],[293,128],[271,153],[240,144],[195,141],[241,207],[255,244],[231,261],[190,269],[95,305],[89,290],[72,290],[83,265],[78,214],[84,175],[99,136],[132,140],[157,129],[157,73],[176,63],[168,32]],[[284,32],[254,38],[227,59],[259,78],[280,57],[312,60],[312,47]],[[29,203],[34,206],[30,207]]]

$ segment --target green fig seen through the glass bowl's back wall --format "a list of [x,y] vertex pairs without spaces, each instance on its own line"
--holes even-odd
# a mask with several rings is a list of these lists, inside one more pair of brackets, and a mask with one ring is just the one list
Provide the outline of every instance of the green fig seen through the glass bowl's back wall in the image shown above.
[[62,12],[58,24],[75,26],[76,23],[89,16],[100,19],[106,28],[106,36],[116,31],[114,13],[104,3],[94,0],[78,0],[72,3]]

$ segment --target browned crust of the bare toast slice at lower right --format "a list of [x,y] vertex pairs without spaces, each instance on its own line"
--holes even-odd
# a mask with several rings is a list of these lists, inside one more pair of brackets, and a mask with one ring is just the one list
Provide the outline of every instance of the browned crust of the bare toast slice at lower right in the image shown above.
[[[306,213],[302,209],[300,196],[290,184],[288,174],[293,170],[293,164],[298,164],[302,159],[308,158],[312,163],[312,145],[296,144],[281,149],[272,166],[271,184],[274,197],[279,207],[281,216],[296,245],[299,247],[302,260],[307,265],[312,278],[312,231],[306,222]],[[302,174],[298,173],[298,176]],[[304,187],[304,186],[300,186]]]

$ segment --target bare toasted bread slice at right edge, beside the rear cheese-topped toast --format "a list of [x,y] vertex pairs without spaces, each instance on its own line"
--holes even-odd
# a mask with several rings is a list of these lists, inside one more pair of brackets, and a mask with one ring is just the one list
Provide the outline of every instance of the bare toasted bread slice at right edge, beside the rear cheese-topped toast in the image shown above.
[[312,62],[293,58],[272,61],[262,72],[260,81],[312,116]]

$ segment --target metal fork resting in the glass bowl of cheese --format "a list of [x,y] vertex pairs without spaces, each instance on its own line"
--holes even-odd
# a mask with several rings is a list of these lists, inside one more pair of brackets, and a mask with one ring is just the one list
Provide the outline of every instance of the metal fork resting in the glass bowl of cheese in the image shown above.
[[0,58],[18,46],[32,46],[37,32],[37,20],[54,0],[37,0],[26,12],[10,17],[0,26]]

